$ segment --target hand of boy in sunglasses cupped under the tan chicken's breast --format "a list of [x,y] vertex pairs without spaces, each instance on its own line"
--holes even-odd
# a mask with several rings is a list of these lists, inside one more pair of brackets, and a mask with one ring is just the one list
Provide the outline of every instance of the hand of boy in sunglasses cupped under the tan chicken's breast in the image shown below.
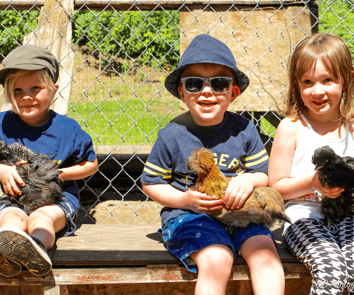
[[217,214],[218,210],[222,209],[222,200],[216,195],[209,196],[198,191],[198,188],[192,186],[185,192],[186,209],[202,214]]

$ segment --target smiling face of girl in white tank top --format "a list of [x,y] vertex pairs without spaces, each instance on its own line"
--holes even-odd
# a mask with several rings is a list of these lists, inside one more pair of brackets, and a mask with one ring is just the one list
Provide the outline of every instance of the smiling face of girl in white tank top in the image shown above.
[[335,120],[341,118],[339,102],[345,90],[343,79],[333,76],[320,58],[316,67],[306,72],[298,84],[301,98],[310,112],[333,115]]

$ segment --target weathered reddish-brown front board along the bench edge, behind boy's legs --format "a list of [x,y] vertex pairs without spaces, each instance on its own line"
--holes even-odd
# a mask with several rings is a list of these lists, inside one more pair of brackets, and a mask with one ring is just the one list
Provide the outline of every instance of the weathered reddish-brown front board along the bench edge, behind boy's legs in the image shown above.
[[[285,278],[310,277],[302,263],[284,263]],[[0,285],[75,285],[75,284],[130,284],[194,282],[198,274],[181,267],[111,267],[111,268],[53,268],[42,277],[22,271],[11,278],[0,278]],[[247,265],[234,265],[229,280],[250,280]],[[245,287],[245,286],[244,286]],[[243,287],[242,287],[243,288]]]

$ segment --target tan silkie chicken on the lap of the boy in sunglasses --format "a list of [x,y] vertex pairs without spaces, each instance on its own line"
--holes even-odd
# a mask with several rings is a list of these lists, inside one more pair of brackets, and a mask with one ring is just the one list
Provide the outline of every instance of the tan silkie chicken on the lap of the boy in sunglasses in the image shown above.
[[[197,148],[187,159],[185,167],[198,174],[195,186],[207,195],[217,195],[224,199],[225,190],[232,177],[227,177],[218,168],[213,153],[206,148]],[[278,191],[270,187],[253,189],[240,209],[226,209],[225,205],[218,214],[211,215],[215,220],[226,225],[225,229],[232,233],[235,228],[244,228],[249,223],[272,228],[276,220],[291,223],[285,214],[283,199]]]

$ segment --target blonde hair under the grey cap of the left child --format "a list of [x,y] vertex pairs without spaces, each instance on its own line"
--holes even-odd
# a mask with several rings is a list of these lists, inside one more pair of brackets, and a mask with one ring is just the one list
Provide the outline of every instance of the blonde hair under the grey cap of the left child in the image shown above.
[[13,84],[15,84],[15,80],[18,76],[27,74],[29,72],[33,72],[35,75],[37,75],[38,79],[40,79],[42,82],[44,82],[44,84],[47,85],[48,92],[49,92],[48,109],[54,100],[55,93],[57,92],[57,87],[55,87],[55,84],[51,76],[47,73],[46,69],[40,69],[40,70],[12,69],[6,74],[5,84],[4,84],[4,98],[8,109],[10,109],[13,112],[16,111],[19,112],[15,100],[15,91],[13,89]]

